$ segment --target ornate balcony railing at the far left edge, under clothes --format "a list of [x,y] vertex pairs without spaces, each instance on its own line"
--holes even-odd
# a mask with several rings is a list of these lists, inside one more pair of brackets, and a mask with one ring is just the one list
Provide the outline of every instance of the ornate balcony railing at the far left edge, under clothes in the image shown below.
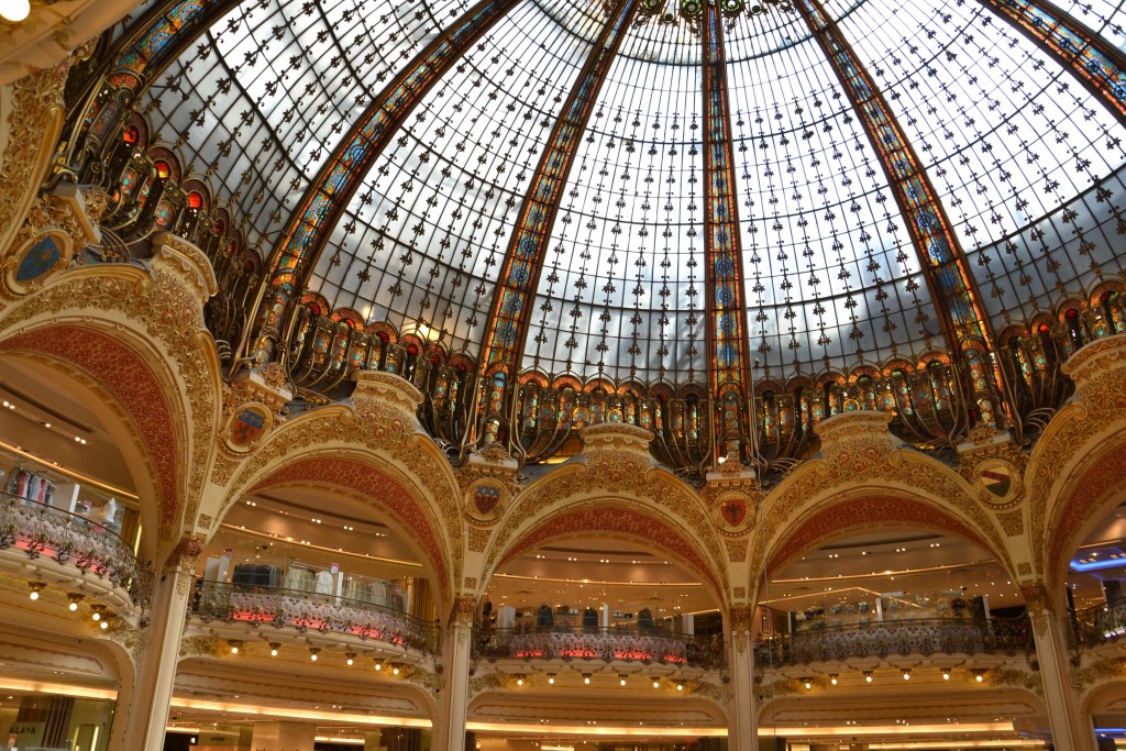
[[124,590],[133,605],[148,605],[152,570],[143,566],[117,533],[86,517],[0,493],[0,549],[75,566]]

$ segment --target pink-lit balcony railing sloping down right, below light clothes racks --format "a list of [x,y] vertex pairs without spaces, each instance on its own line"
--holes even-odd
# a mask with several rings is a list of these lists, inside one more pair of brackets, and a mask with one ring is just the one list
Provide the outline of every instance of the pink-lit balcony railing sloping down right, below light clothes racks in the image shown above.
[[428,654],[438,651],[436,623],[333,594],[196,580],[191,613],[204,622],[268,624],[372,638]]

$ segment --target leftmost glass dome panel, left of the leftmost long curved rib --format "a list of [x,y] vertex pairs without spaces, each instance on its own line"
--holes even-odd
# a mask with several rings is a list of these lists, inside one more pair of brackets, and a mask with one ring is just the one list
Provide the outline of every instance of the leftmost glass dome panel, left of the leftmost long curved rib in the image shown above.
[[148,90],[155,132],[269,252],[316,171],[464,0],[247,0]]

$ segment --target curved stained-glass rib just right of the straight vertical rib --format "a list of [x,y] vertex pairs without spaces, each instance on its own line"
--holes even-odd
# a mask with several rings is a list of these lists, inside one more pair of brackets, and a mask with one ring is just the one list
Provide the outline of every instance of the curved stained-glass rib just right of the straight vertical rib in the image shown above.
[[993,332],[950,221],[883,95],[820,0],[797,0],[802,17],[833,65],[849,101],[879,155],[895,203],[906,221],[927,287],[938,309],[947,346],[968,373],[977,421],[998,427],[1001,377],[993,359]]

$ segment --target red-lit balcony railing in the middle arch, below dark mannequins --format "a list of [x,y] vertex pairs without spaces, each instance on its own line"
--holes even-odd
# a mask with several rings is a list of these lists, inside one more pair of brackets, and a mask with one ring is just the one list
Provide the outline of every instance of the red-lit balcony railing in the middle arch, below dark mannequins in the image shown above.
[[699,637],[653,629],[552,626],[474,631],[474,656],[488,660],[637,661],[694,668],[724,663],[718,637]]

